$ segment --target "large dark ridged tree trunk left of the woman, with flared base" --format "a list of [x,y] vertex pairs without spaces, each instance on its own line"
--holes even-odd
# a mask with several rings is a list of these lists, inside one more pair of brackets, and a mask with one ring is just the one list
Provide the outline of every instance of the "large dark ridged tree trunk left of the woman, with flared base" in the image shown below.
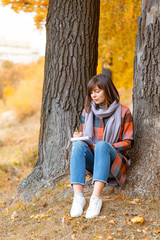
[[18,189],[26,200],[68,168],[70,137],[96,74],[99,9],[99,0],[50,0],[38,160]]

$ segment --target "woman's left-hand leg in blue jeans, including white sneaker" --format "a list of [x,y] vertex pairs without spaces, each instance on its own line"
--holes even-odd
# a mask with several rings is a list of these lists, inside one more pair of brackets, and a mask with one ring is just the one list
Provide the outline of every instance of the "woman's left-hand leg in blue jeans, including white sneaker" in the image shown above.
[[71,150],[70,179],[74,189],[74,199],[70,214],[72,217],[82,215],[86,204],[83,195],[86,168],[93,172],[94,158],[90,148],[84,142],[75,142]]

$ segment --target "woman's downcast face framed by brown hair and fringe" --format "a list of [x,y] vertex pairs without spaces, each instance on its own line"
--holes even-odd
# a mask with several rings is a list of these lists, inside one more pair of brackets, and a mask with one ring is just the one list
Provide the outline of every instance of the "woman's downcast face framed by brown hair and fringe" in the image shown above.
[[106,103],[106,96],[103,89],[100,89],[98,86],[95,86],[91,91],[91,98],[96,104]]

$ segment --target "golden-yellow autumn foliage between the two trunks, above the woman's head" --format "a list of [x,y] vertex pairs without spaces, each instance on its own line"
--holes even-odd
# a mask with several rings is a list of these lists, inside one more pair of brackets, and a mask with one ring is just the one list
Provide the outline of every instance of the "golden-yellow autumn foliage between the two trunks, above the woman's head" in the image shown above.
[[101,0],[97,72],[101,73],[102,66],[110,68],[118,88],[133,85],[137,17],[141,2]]

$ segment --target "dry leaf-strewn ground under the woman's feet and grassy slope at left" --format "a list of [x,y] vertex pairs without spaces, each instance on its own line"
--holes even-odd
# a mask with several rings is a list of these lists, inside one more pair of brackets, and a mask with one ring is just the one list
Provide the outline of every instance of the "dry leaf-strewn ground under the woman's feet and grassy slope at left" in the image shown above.
[[0,240],[160,239],[160,201],[103,194],[100,216],[86,219],[92,186],[87,176],[83,216],[70,217],[73,192],[69,176],[30,202],[17,197],[21,179],[37,158],[39,115],[3,127],[0,139]]

